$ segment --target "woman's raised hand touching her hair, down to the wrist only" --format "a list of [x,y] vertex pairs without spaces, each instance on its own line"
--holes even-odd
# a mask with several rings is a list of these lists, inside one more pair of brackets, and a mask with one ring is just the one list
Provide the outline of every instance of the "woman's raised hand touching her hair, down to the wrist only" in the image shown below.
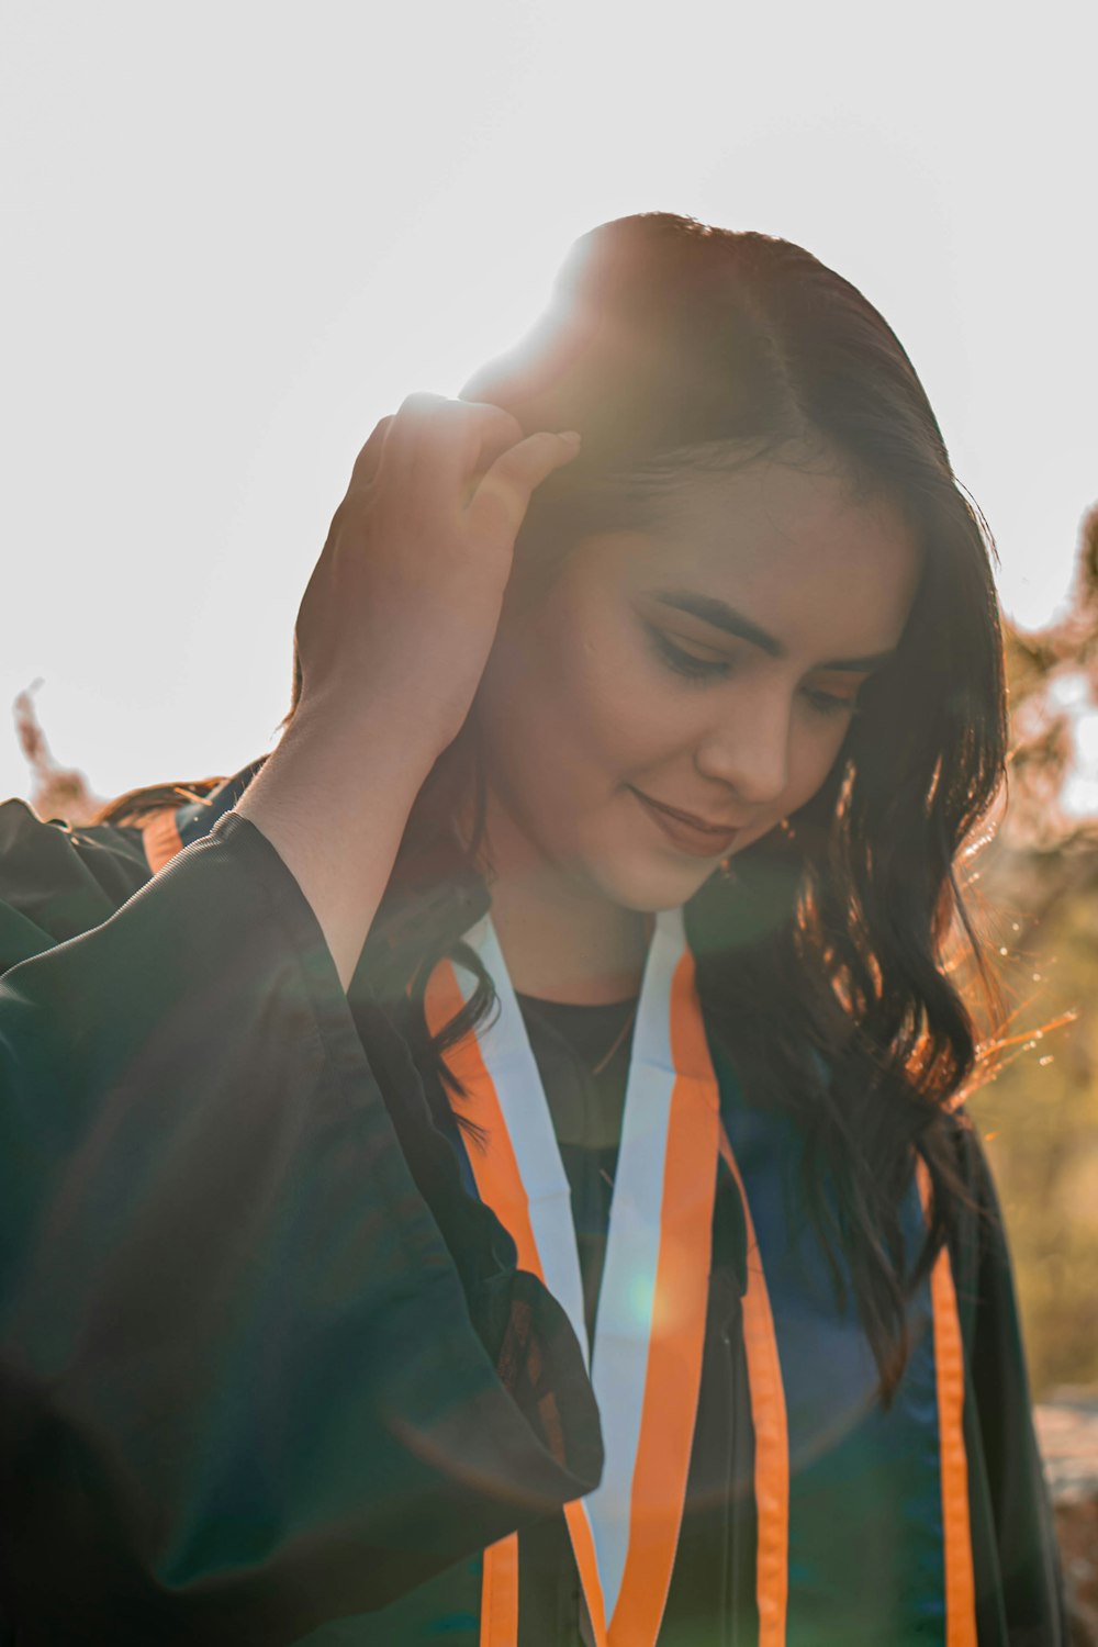
[[301,601],[303,705],[441,749],[487,662],[530,496],[579,450],[492,405],[408,395],[359,453]]

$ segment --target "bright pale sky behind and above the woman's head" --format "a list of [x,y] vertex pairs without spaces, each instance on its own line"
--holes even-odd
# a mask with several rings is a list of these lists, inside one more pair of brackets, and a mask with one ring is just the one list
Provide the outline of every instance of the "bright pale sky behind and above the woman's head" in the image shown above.
[[[1062,601],[1098,496],[1075,0],[5,0],[7,705],[115,794],[268,748],[354,453],[630,211],[798,240],[907,346],[1003,555]],[[1022,18],[1011,21],[1009,18]]]

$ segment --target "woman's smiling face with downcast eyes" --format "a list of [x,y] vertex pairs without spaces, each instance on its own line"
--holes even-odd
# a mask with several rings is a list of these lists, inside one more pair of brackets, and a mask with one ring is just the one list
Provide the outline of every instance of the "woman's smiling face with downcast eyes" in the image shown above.
[[685,478],[509,600],[477,695],[489,850],[627,909],[685,903],[823,784],[899,644],[919,553],[838,471]]

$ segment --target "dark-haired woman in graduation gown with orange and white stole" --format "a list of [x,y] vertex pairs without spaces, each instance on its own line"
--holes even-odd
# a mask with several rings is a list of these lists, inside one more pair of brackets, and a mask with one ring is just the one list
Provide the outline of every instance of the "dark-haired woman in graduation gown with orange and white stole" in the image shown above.
[[1058,1642],[945,954],[996,604],[881,316],[604,224],[296,665],[232,779],[0,810],[13,1639]]

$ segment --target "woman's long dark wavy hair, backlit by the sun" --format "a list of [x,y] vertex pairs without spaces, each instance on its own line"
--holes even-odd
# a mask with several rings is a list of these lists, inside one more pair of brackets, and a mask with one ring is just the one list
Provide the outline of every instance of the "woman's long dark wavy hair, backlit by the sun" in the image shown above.
[[[960,977],[989,985],[955,865],[1003,779],[1006,708],[993,547],[958,484],[900,343],[848,282],[787,240],[645,212],[573,247],[538,326],[463,389],[525,433],[578,428],[581,455],[533,496],[515,576],[537,591],[584,535],[658,520],[672,486],[817,448],[902,511],[922,552],[894,660],[863,688],[818,794],[691,899],[711,1033],[754,1103],[798,1118],[805,1194],[841,1290],[853,1286],[889,1400],[907,1299],[961,1212],[956,1097],[978,1062]],[[293,716],[301,690],[295,657]],[[413,1010],[416,1056],[446,1087],[446,1049],[491,1010],[491,978],[433,1041],[426,980],[461,955],[482,898],[484,771],[476,713],[408,819],[362,965]],[[202,794],[206,784],[193,786]],[[102,822],[178,804],[135,791]],[[958,937],[966,949],[958,967]],[[928,1230],[905,1255],[902,1197],[920,1156]],[[831,1186],[828,1191],[826,1186]],[[844,1265],[843,1260],[844,1258]]]

